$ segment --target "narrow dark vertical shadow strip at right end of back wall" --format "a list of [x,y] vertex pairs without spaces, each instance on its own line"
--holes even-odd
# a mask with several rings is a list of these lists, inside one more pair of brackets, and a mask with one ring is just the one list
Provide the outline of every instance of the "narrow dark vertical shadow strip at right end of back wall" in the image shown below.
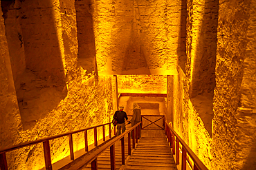
[[187,62],[187,54],[186,54],[186,37],[187,37],[187,1],[181,0],[181,27],[179,31],[179,40],[178,40],[178,65],[181,67],[183,72],[185,72],[185,63]]

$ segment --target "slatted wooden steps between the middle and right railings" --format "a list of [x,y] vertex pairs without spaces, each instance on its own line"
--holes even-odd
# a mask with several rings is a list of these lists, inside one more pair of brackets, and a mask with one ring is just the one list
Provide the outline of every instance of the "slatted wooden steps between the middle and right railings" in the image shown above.
[[176,170],[166,138],[141,138],[123,169]]

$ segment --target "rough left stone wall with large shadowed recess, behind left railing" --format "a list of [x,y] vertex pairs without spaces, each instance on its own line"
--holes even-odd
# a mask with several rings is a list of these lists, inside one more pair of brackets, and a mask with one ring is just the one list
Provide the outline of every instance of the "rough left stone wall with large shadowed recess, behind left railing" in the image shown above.
[[[109,123],[113,78],[88,76],[84,67],[77,66],[75,1],[1,4],[5,10],[0,17],[0,149]],[[13,47],[19,49],[9,53]],[[22,68],[17,67],[19,61],[25,62]],[[89,145],[92,142],[89,131]],[[69,156],[68,138],[51,140],[50,145],[53,163]],[[73,147],[74,151],[84,147],[83,133],[73,136]],[[8,169],[44,167],[42,144],[6,156]]]

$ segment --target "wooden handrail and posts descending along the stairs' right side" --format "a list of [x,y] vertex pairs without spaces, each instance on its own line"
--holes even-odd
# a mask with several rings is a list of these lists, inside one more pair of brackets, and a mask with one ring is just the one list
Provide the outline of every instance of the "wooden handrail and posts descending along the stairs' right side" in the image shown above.
[[[201,162],[201,160],[199,160],[199,158],[196,156],[196,154],[192,151],[192,149],[190,149],[190,147],[188,147],[188,145],[185,143],[184,140],[182,140],[182,138],[176,134],[176,132],[174,131],[174,129],[169,125],[169,123],[167,123],[166,119],[165,119],[165,125],[168,129],[170,129],[171,134],[168,134],[169,132],[165,131],[167,133],[167,136],[170,138],[170,140],[172,140],[172,149],[174,150],[174,154],[175,154],[175,148],[176,148],[176,153],[179,153],[179,150],[177,150],[179,148],[179,146],[175,146],[175,142],[174,142],[174,136],[176,137],[176,145],[179,145],[179,143],[181,143],[182,145],[182,152],[183,152],[183,157],[185,157],[186,153],[188,153],[188,155],[190,156],[190,158],[193,160],[194,162],[194,169],[200,169],[200,170],[208,170],[207,167],[205,167],[205,164],[203,164],[203,162]],[[172,134],[174,134],[174,136],[172,136]],[[171,141],[170,141],[171,142]],[[178,155],[178,154],[176,154]],[[179,159],[179,158],[176,158]],[[179,162],[179,160],[176,160],[176,163]],[[182,170],[185,169],[185,165],[183,163],[184,161],[182,161],[183,167]],[[179,163],[178,163],[179,164]]]

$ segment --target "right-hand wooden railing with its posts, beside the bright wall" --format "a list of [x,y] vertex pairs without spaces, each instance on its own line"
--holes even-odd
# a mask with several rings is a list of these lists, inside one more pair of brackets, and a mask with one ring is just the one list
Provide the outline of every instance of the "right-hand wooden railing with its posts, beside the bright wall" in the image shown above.
[[[169,129],[169,131],[168,131]],[[176,164],[179,164],[179,143],[182,145],[182,164],[181,164],[181,169],[185,170],[186,169],[186,160],[187,160],[187,153],[190,156],[190,158],[194,162],[194,170],[200,169],[200,170],[208,170],[207,167],[205,167],[205,164],[201,162],[201,160],[196,156],[196,154],[188,147],[188,145],[185,143],[184,140],[174,131],[174,129],[167,123],[165,119],[165,134],[167,136],[168,141],[171,144],[171,148],[173,151],[173,155],[176,153]],[[176,138],[176,147],[175,147],[175,138]]]

